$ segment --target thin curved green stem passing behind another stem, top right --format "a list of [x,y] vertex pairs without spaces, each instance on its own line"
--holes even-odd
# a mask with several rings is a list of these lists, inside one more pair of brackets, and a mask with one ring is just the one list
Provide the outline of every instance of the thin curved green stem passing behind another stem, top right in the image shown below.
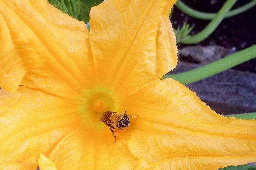
[[[230,10],[226,15],[225,18],[233,17],[237,14],[240,14],[242,12],[245,12],[249,10],[250,8],[254,7],[256,5],[256,0],[252,0],[251,2],[246,3],[245,5],[242,5],[241,7],[238,7],[236,9]],[[181,0],[178,0],[175,4],[177,8],[179,8],[183,13],[197,18],[197,19],[204,19],[204,20],[212,20],[216,13],[207,13],[207,12],[200,12],[198,10],[194,10],[190,8],[189,6],[185,5]]]

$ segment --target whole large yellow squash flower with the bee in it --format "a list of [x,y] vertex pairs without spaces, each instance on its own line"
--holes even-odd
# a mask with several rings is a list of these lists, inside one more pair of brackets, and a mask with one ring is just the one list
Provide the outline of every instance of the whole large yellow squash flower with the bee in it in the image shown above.
[[[91,30],[47,0],[0,0],[0,169],[213,170],[256,161],[256,121],[172,79],[175,0],[106,0]],[[21,86],[19,86],[21,85]],[[138,115],[116,143],[105,111]]]

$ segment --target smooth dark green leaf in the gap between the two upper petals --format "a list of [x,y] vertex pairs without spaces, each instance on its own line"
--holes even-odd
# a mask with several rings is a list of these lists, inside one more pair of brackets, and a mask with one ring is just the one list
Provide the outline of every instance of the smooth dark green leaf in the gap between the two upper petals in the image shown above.
[[103,0],[81,0],[81,10],[78,19],[85,23],[89,22],[89,12],[91,8],[101,2],[103,2]]

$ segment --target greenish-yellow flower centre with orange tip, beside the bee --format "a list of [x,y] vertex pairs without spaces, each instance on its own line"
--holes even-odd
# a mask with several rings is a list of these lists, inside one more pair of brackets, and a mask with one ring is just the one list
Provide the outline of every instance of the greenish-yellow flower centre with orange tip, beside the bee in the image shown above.
[[95,85],[83,90],[82,99],[79,102],[78,113],[83,117],[86,125],[104,127],[100,117],[106,111],[119,111],[118,98],[110,88]]

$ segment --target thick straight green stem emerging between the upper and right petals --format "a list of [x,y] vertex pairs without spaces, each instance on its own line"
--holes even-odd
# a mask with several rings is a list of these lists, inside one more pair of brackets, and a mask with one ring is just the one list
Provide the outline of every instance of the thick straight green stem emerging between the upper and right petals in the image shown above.
[[256,45],[214,61],[208,65],[195,68],[194,70],[173,75],[164,75],[162,79],[173,78],[183,84],[193,83],[206,77],[212,76],[216,73],[220,73],[221,71],[227,70],[228,68],[239,65],[240,63],[243,63],[254,57],[256,57]]

